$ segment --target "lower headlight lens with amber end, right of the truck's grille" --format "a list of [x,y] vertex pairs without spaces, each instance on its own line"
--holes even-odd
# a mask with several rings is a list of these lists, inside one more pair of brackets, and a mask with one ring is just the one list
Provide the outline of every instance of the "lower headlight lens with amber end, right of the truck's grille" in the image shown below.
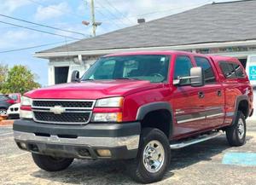
[[122,122],[122,113],[94,113],[93,122]]

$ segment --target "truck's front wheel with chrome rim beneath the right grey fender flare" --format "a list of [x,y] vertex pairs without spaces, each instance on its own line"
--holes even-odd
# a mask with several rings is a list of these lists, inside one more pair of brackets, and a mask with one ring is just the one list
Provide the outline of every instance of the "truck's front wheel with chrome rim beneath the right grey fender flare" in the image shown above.
[[137,159],[129,171],[137,182],[158,182],[165,175],[171,159],[171,149],[166,135],[158,129],[143,129]]

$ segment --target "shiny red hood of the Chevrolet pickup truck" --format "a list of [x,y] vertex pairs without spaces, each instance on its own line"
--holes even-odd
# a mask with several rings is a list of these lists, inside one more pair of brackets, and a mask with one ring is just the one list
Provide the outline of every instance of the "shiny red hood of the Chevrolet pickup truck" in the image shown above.
[[143,80],[94,80],[81,83],[58,84],[32,90],[25,95],[33,99],[88,99],[125,96],[142,90],[162,87]]

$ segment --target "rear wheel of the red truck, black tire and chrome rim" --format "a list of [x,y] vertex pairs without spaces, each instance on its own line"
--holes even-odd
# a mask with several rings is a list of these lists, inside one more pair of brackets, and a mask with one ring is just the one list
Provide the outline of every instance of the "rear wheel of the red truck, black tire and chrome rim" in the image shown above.
[[[243,129],[243,132],[241,129]],[[241,111],[238,111],[235,123],[226,130],[226,136],[230,146],[239,147],[244,145],[244,143],[246,142],[246,133],[247,125],[245,117],[243,113],[241,113]]]

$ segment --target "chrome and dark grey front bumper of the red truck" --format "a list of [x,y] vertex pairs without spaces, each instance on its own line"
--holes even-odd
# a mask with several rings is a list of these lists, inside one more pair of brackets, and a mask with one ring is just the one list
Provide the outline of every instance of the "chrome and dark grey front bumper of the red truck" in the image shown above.
[[[15,142],[20,149],[76,159],[135,158],[140,130],[139,122],[60,125],[20,119],[14,124]],[[109,150],[111,155],[101,156],[99,149]]]

